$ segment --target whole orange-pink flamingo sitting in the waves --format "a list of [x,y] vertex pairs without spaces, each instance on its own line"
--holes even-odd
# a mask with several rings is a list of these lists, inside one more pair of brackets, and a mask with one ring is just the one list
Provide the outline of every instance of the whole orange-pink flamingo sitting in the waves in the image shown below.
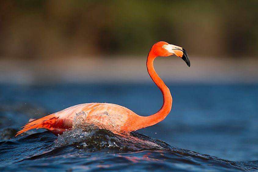
[[160,110],[150,116],[140,116],[126,107],[112,103],[84,103],[68,107],[59,112],[39,119],[30,119],[16,136],[30,129],[47,129],[56,136],[73,127],[73,122],[78,114],[84,113],[83,122],[94,125],[100,129],[107,129],[116,134],[125,134],[161,122],[172,108],[172,96],[169,88],[155,72],[154,59],[158,56],[176,55],[182,58],[190,67],[186,51],[163,41],[155,43],[147,56],[147,71],[163,95],[163,105]]

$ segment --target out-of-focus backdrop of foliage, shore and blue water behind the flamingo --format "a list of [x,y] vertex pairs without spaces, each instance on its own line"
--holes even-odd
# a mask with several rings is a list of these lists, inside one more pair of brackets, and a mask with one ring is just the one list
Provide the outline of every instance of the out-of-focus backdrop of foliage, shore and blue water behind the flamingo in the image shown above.
[[2,0],[2,139],[14,136],[6,128],[79,103],[155,113],[162,95],[146,57],[166,41],[184,47],[191,67],[175,56],[155,60],[173,108],[140,132],[220,158],[257,160],[257,7],[256,0]]

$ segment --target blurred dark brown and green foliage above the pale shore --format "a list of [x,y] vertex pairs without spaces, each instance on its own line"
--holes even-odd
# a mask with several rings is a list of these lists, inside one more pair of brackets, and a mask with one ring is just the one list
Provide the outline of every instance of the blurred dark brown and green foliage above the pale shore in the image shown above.
[[0,2],[0,56],[147,54],[163,40],[205,56],[258,55],[258,1]]

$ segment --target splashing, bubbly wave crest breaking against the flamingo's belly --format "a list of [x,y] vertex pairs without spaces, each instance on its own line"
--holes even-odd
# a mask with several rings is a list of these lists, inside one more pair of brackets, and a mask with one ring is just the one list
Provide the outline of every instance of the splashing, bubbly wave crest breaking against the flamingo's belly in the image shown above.
[[[108,116],[108,114],[104,115]],[[76,145],[77,148],[87,151],[112,148],[112,151],[118,152],[164,149],[159,144],[143,139],[143,137],[132,134],[116,135],[109,130],[99,129],[96,125],[85,122],[86,118],[87,114],[83,111],[76,114],[72,129],[59,135],[55,140],[56,147]]]

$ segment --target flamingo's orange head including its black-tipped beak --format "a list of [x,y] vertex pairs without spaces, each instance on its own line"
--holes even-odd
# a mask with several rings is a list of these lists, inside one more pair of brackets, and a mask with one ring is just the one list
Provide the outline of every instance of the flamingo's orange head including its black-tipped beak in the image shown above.
[[178,47],[176,45],[169,44],[164,41],[160,41],[155,43],[151,47],[151,51],[155,54],[155,56],[171,56],[171,55],[176,55],[177,57],[182,58],[187,66],[190,67],[190,60],[188,58],[188,55],[184,48]]

